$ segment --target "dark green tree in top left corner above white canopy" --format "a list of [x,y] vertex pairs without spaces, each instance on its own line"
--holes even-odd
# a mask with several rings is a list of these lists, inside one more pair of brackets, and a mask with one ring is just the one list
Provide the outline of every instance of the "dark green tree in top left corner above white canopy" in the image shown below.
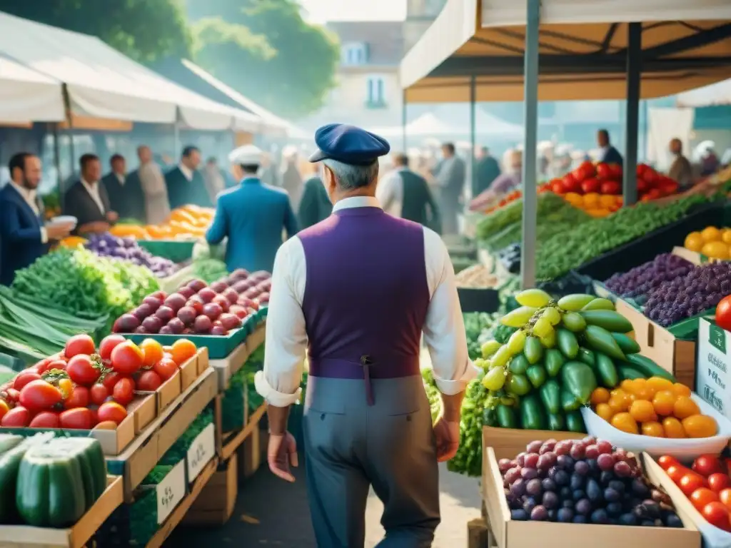
[[180,0],[0,0],[0,11],[93,34],[144,64],[190,54]]

